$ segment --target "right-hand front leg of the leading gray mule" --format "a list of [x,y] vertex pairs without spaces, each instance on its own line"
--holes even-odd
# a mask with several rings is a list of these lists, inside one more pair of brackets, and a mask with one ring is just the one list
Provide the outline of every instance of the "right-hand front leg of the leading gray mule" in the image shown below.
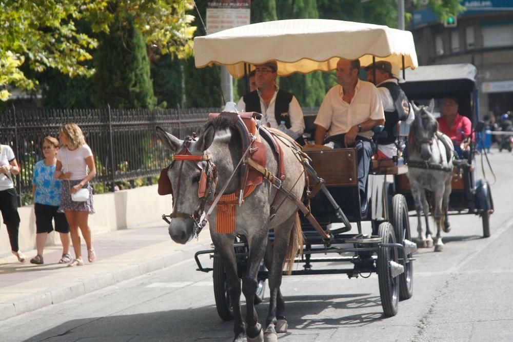
[[258,323],[257,310],[254,308],[254,296],[257,291],[257,275],[260,263],[267,247],[267,229],[260,229],[249,242],[248,266],[242,279],[242,292],[246,297],[246,335],[248,341],[263,341],[262,325]]

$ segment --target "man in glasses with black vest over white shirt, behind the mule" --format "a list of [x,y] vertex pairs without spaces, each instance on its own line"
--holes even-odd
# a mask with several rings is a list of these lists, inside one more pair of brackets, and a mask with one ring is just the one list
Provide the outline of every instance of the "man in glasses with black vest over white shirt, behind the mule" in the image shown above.
[[237,110],[262,113],[262,124],[277,128],[283,121],[286,133],[298,143],[304,145],[303,131],[305,121],[298,99],[276,85],[278,66],[276,62],[255,65],[257,90],[241,97]]

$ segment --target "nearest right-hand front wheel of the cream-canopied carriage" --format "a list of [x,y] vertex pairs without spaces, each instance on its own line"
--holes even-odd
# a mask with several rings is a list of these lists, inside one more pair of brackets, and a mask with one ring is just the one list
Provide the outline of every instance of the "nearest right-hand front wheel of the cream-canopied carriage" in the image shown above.
[[[380,225],[379,236],[384,244],[396,243],[393,235],[393,227],[384,222]],[[380,285],[381,306],[385,316],[391,317],[397,314],[399,304],[399,277],[392,277],[390,261],[398,262],[397,248],[380,247],[378,250],[378,282]]]

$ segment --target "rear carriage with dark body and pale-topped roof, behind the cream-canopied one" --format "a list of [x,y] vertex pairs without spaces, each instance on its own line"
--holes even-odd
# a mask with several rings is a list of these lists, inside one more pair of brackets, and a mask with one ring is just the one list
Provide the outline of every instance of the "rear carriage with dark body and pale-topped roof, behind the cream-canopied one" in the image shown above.
[[[483,236],[490,236],[490,214],[494,212],[494,202],[490,187],[485,179],[476,179],[477,139],[482,138],[483,124],[479,116],[479,94],[476,87],[476,67],[471,64],[451,64],[422,66],[416,70],[407,70],[407,82],[401,84],[411,100],[420,103],[431,98],[456,97],[459,113],[470,119],[473,126],[473,139],[458,160],[452,177],[449,197],[449,214],[476,214],[481,216]],[[406,196],[409,208],[412,208],[410,185],[406,175],[394,177],[395,189],[390,193]]]

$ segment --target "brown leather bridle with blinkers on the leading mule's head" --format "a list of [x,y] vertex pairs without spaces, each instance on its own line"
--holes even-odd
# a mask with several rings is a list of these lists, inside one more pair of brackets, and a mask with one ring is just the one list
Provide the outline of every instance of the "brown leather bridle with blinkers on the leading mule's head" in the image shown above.
[[[162,219],[165,220],[168,224],[171,224],[169,218],[181,217],[181,218],[192,218],[194,221],[194,234],[193,236],[198,237],[198,234],[201,232],[204,225],[201,225],[200,218],[204,212],[205,204],[207,200],[213,196],[214,189],[218,182],[218,173],[215,164],[210,159],[209,154],[202,155],[192,155],[189,150],[190,144],[195,141],[196,133],[192,133],[191,136],[188,136],[184,140],[183,149],[176,153],[173,156],[173,162],[166,168],[167,170],[173,167],[175,162],[180,162],[180,167],[178,171],[178,179],[176,184],[176,198],[173,193],[171,193],[173,197],[173,212],[169,215],[162,215]],[[200,204],[198,208],[192,213],[184,213],[179,211],[178,202],[180,197],[180,185],[182,180],[182,169],[185,162],[194,162],[196,168],[201,171],[200,183],[198,186],[198,198],[200,199]],[[207,162],[205,168],[203,168],[203,163]]]

